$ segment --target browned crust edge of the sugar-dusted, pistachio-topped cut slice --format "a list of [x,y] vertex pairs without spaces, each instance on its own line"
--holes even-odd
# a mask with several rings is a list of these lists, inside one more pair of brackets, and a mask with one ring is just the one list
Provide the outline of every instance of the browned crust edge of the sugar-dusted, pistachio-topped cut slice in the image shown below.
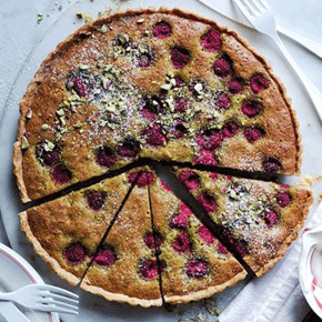
[[279,251],[278,256],[274,258],[273,260],[271,260],[270,262],[268,262],[265,265],[263,265],[261,268],[261,270],[259,270],[255,273],[258,278],[264,275],[269,270],[271,270],[275,265],[275,263],[278,261],[280,261],[285,255],[285,252],[289,249],[289,246],[291,245],[291,243],[298,239],[299,231],[301,230],[301,228],[304,224],[305,219],[308,218],[308,213],[309,213],[309,210],[310,210],[310,207],[312,203],[313,203],[313,193],[311,191],[308,191],[305,203],[304,203],[304,207],[302,208],[303,220],[301,222],[299,222],[299,224],[293,229],[293,233],[290,234],[285,239],[283,245],[281,246],[281,249]]

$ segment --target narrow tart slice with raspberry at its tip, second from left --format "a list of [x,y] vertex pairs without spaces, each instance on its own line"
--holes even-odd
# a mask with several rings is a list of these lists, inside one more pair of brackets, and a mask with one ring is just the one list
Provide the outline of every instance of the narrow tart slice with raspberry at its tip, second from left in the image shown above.
[[84,291],[131,305],[162,304],[147,189],[152,180],[152,172],[140,177],[81,283]]

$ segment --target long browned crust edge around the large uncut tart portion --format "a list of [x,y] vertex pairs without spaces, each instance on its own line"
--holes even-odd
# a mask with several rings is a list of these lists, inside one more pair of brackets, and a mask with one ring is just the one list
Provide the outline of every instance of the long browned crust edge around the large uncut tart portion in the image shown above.
[[[221,27],[219,26],[215,21],[203,18],[197,13],[193,12],[189,12],[189,11],[183,11],[181,9],[168,9],[164,7],[160,7],[159,9],[155,8],[148,8],[148,9],[129,9],[125,11],[119,11],[115,12],[109,17],[102,17],[99,18],[92,22],[85,23],[84,26],[82,26],[80,29],[78,29],[77,31],[74,31],[72,34],[70,34],[64,41],[60,42],[57,48],[50,52],[47,58],[43,60],[43,62],[41,63],[39,70],[36,72],[33,79],[31,80],[31,82],[29,83],[27,91],[23,95],[23,98],[20,101],[20,113],[22,111],[23,107],[28,105],[28,101],[30,100],[30,97],[32,97],[32,93],[34,91],[37,91],[38,88],[38,82],[41,81],[42,79],[42,73],[43,70],[46,68],[46,66],[52,60],[52,58],[61,50],[63,50],[64,48],[67,48],[68,46],[72,44],[72,42],[80,36],[83,33],[87,33],[88,31],[90,31],[91,29],[94,29],[94,27],[97,24],[100,23],[108,23],[111,20],[124,17],[124,16],[139,16],[139,14],[143,14],[143,13],[165,13],[165,14],[174,14],[178,17],[182,17],[182,18],[187,18],[187,19],[192,19],[194,21],[199,21],[199,22],[203,22],[207,24],[211,24],[211,26],[215,26],[219,30],[221,30],[222,32],[229,33],[232,37],[234,37],[241,44],[243,44],[248,50],[250,50],[252,52],[252,54],[254,54],[254,57],[263,63],[264,68],[266,69],[268,73],[270,74],[270,77],[275,81],[275,83],[278,84],[280,92],[290,110],[291,113],[291,118],[292,118],[292,123],[294,127],[294,133],[295,133],[295,138],[296,138],[296,164],[295,164],[295,173],[296,175],[300,174],[300,168],[301,168],[301,163],[302,163],[302,143],[301,143],[301,134],[300,134],[300,125],[299,125],[299,121],[296,119],[296,114],[295,114],[295,110],[292,108],[292,102],[291,99],[286,95],[286,90],[284,84],[281,82],[280,78],[276,77],[273,73],[273,70],[271,68],[271,66],[269,64],[269,62],[266,61],[266,59],[264,57],[262,57],[261,54],[259,54],[256,52],[256,50],[251,47],[249,44],[249,42],[241,38],[239,36],[238,32],[228,29],[227,27]],[[21,199],[22,202],[28,202],[30,201],[30,198],[28,197],[28,192],[27,192],[27,188],[23,181],[23,175],[22,175],[22,151],[20,148],[20,142],[19,139],[21,138],[21,135],[24,132],[24,119],[22,119],[20,117],[19,119],[19,131],[18,131],[18,144],[14,144],[14,154],[13,154],[13,165],[14,165],[14,174],[17,177],[17,181],[18,181],[18,188],[20,190],[21,193]],[[20,149],[19,149],[20,148]]]

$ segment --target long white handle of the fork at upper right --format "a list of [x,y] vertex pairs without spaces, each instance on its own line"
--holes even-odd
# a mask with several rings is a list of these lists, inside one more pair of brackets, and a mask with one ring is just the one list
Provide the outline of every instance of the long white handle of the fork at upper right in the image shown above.
[[306,74],[302,71],[302,69],[299,67],[296,61],[293,59],[293,57],[290,54],[283,42],[281,41],[280,37],[278,36],[278,32],[275,32],[274,34],[270,34],[270,37],[275,41],[276,46],[283,53],[284,58],[289,61],[290,66],[295,71],[299,79],[302,81],[322,122],[322,93],[310,81],[310,79],[308,79]]

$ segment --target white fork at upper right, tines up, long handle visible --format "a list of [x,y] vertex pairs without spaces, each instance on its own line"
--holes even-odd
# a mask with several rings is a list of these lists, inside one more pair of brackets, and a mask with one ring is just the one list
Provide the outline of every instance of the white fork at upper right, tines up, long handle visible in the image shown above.
[[233,0],[244,14],[246,20],[253,26],[254,29],[269,36],[283,53],[284,58],[289,61],[299,79],[302,81],[305,90],[308,91],[315,110],[322,121],[322,93],[315,85],[308,79],[302,69],[298,66],[292,58],[285,46],[282,43],[278,32],[274,13],[265,0]]

